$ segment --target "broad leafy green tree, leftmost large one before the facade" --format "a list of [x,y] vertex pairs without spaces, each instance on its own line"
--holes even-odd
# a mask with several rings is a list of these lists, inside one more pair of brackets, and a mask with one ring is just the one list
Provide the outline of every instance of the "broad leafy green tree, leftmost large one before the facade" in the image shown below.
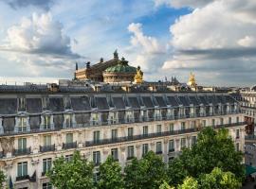
[[94,188],[93,167],[93,163],[88,163],[82,159],[79,151],[75,151],[69,162],[63,156],[56,159],[46,176],[58,189]]

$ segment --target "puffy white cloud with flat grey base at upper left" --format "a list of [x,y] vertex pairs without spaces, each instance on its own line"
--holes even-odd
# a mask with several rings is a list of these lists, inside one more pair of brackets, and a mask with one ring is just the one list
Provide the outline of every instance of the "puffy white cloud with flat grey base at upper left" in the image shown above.
[[54,21],[50,13],[23,18],[9,27],[6,43],[1,50],[36,54],[39,56],[80,58],[71,51],[70,38],[64,35],[63,25]]

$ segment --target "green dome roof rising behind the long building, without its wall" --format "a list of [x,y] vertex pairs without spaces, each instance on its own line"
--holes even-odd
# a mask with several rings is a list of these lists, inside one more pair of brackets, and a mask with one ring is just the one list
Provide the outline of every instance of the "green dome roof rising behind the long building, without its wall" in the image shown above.
[[122,60],[119,61],[119,64],[105,69],[105,72],[107,72],[107,73],[136,73],[137,68],[128,65],[128,61],[126,61],[122,58]]

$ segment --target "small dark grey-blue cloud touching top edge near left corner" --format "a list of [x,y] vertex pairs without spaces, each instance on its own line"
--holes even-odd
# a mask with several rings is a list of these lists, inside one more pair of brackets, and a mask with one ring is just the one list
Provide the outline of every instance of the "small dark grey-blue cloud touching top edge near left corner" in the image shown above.
[[2,0],[7,3],[12,9],[26,8],[34,6],[41,9],[50,9],[53,5],[53,0]]

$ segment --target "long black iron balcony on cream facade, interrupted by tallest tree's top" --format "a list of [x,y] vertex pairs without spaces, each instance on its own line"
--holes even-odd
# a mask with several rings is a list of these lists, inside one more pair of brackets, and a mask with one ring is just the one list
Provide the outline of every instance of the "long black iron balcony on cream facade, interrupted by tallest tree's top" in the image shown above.
[[[243,125],[245,125],[245,122],[218,125],[218,126],[215,126],[214,129],[230,128],[230,127],[243,126]],[[197,131],[199,131],[199,129],[196,129],[196,128],[195,129],[179,129],[179,130],[172,130],[172,131],[148,133],[147,135],[139,134],[139,135],[134,135],[129,137],[128,136],[118,137],[115,139],[102,139],[102,140],[97,140],[97,143],[95,143],[95,141],[86,141],[85,146],[109,145],[109,144],[115,144],[115,143],[137,141],[137,140],[148,139],[148,138],[185,134],[185,133],[197,132]]]

